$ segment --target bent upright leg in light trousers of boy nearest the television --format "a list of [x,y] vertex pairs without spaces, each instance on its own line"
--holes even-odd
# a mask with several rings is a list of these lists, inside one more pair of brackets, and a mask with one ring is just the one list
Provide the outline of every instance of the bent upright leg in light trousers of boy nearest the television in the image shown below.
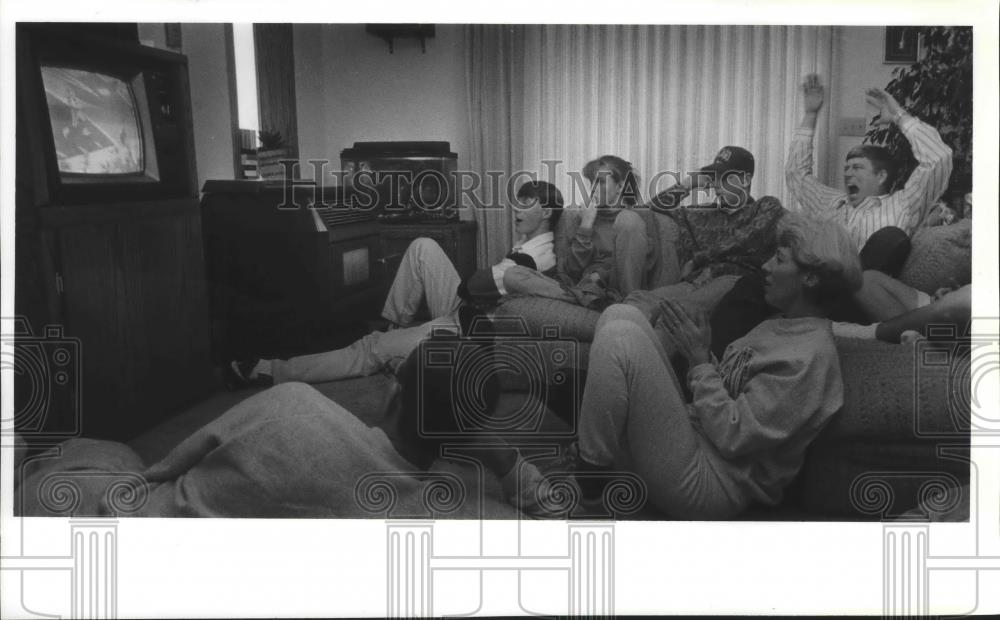
[[410,325],[424,298],[431,318],[449,315],[458,310],[461,302],[461,281],[441,246],[426,237],[414,239],[399,263],[382,316],[397,325]]

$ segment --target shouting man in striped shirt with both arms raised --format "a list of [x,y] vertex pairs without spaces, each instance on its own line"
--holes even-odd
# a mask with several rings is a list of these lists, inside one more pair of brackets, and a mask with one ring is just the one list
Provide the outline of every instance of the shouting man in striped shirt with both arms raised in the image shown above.
[[892,154],[883,147],[859,145],[847,154],[846,191],[827,187],[812,172],[813,133],[823,106],[819,77],[807,76],[802,91],[805,114],[788,150],[785,178],[803,211],[839,222],[859,248],[883,228],[896,227],[910,236],[926,225],[951,175],[951,149],[941,141],[937,130],[907,114],[884,90],[869,89],[868,102],[879,108],[876,122],[895,123],[909,140],[918,165],[904,186],[892,192],[897,172]]

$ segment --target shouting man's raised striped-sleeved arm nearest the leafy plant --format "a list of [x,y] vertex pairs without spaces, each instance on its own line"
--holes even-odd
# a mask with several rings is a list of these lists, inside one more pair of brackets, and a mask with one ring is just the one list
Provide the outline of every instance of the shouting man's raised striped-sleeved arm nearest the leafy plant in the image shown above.
[[951,176],[952,152],[936,129],[907,114],[892,95],[880,88],[869,89],[868,102],[879,108],[880,125],[895,123],[910,142],[917,167],[894,198],[907,211],[905,229],[908,234],[928,223],[934,202],[944,192]]

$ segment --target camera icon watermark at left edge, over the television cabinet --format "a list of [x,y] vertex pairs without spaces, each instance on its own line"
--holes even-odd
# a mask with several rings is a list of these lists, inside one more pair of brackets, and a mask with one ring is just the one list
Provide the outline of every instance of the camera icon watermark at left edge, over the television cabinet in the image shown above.
[[14,411],[0,420],[0,433],[32,443],[57,443],[81,434],[81,354],[78,338],[62,326],[35,334],[24,317],[0,334],[0,370],[13,375]]

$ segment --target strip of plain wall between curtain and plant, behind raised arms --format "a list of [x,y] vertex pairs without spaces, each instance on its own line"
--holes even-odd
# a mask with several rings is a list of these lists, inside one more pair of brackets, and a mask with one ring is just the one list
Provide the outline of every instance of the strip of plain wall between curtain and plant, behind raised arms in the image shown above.
[[[867,123],[875,109],[865,103],[865,90],[885,88],[892,79],[892,70],[901,65],[883,64],[885,28],[882,26],[841,26],[837,28],[839,57],[834,76],[827,83],[827,99],[833,116],[834,131],[840,133],[839,121],[863,118]],[[827,168],[824,183],[832,187],[843,185],[842,171],[847,152],[861,143],[863,135],[840,135],[827,146]]]

